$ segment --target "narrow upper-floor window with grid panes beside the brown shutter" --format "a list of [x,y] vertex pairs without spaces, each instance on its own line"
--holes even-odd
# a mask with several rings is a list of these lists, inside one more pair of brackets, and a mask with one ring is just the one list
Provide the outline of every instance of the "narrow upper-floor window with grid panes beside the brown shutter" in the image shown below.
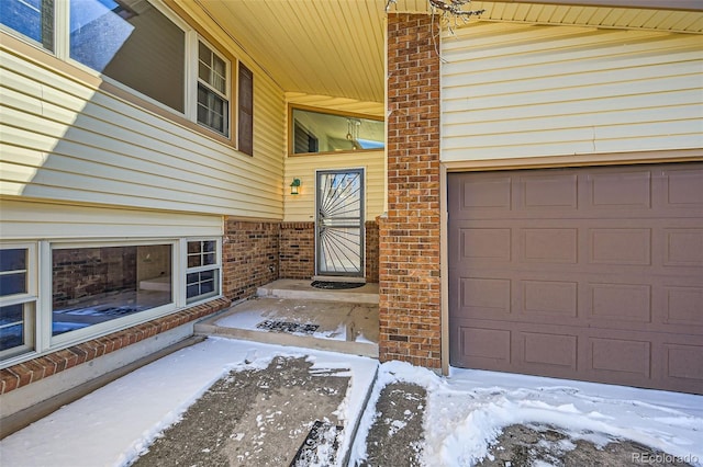
[[228,64],[198,42],[198,123],[225,136],[228,133]]

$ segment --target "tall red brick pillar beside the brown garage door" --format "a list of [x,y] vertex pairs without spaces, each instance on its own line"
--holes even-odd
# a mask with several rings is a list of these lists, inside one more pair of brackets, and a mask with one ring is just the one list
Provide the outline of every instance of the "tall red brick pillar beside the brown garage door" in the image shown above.
[[[440,367],[439,25],[388,19],[388,213],[380,219],[382,362]],[[436,20],[435,20],[436,21]]]

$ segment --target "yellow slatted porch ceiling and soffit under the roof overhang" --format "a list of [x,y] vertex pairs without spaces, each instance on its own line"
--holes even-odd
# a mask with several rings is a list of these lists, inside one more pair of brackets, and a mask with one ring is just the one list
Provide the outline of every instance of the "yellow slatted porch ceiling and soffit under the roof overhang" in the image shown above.
[[[192,1],[234,37],[283,91],[383,102],[387,0]],[[703,32],[701,2],[691,0],[555,2],[475,0],[468,7],[486,10],[481,21]],[[656,9],[661,5],[671,9]],[[422,12],[427,8],[427,0],[398,0],[391,11]]]

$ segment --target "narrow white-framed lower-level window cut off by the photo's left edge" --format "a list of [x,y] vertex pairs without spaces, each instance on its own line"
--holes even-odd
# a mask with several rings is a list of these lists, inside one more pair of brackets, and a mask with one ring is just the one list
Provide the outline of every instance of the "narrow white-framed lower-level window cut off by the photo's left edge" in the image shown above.
[[14,356],[34,345],[34,249],[0,249],[0,357]]

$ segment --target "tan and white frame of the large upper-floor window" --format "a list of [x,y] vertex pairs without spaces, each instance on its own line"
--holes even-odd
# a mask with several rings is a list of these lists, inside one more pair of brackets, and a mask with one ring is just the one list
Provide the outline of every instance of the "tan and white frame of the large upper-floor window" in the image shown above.
[[[202,29],[202,26],[191,20],[178,4],[170,2],[166,4],[164,0],[146,1],[186,33],[186,56],[183,58],[186,67],[186,82],[183,90],[185,112],[171,109],[168,105],[137,91],[136,89],[130,88],[129,86],[108,76],[101,75],[92,68],[82,65],[78,60],[70,58],[68,36],[70,5],[68,1],[54,2],[53,50],[45,48],[41,43],[23,35],[19,31],[5,26],[4,24],[0,24],[0,36],[2,36],[2,42],[5,43],[5,45],[20,50],[23,55],[27,55],[52,69],[66,73],[96,90],[100,89],[102,91],[107,91],[119,100],[136,105],[144,111],[156,114],[178,125],[185,126],[204,137],[238,150],[235,132],[236,117],[238,115],[235,112],[235,105],[237,105],[235,102],[237,96],[237,76],[235,73],[235,65],[241,60],[230,54],[226,47],[221,46],[220,42],[215,41]],[[227,136],[198,123],[198,41],[209,44],[210,48],[220,57],[224,58],[230,65],[230,82],[227,88],[230,95],[227,101]]]

